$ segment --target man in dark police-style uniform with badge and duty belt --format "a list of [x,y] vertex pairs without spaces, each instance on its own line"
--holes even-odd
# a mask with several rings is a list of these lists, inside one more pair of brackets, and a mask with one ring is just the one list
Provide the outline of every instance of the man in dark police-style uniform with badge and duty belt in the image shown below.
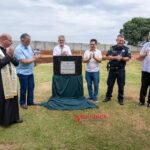
[[128,47],[124,46],[124,37],[118,35],[116,39],[117,45],[112,46],[106,54],[108,63],[108,79],[107,93],[104,102],[111,100],[113,87],[117,79],[118,84],[118,102],[123,105],[124,100],[124,85],[125,85],[125,66],[126,62],[131,58],[131,52]]

